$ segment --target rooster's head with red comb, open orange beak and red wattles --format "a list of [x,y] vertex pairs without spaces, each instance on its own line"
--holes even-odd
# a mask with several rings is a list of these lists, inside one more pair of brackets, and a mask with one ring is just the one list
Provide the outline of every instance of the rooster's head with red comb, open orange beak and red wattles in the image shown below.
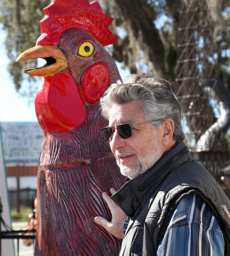
[[42,76],[35,108],[44,133],[72,131],[98,102],[110,83],[119,79],[116,64],[104,46],[117,42],[109,30],[112,18],[97,1],[51,0],[43,9],[36,46],[16,61],[43,58],[43,67],[25,69]]

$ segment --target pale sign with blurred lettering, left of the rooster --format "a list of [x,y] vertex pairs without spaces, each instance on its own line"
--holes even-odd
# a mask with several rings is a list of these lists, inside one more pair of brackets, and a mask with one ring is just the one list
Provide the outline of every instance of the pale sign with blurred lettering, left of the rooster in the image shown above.
[[44,133],[37,122],[1,122],[5,165],[38,162]]

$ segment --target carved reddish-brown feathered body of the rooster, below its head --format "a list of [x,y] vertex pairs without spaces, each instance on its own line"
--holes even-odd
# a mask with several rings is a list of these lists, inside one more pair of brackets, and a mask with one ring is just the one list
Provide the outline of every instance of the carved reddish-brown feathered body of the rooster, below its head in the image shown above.
[[101,194],[118,189],[114,157],[99,143],[98,107],[76,130],[44,135],[38,171],[36,255],[117,255],[120,241],[93,221],[110,213]]

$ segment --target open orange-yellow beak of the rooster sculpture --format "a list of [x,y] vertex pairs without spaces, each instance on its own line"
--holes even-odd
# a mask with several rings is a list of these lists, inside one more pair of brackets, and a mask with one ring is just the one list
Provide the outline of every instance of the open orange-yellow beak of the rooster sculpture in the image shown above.
[[37,45],[25,52],[22,52],[16,61],[26,61],[30,59],[42,58],[46,60],[43,67],[34,67],[31,69],[24,69],[23,72],[31,76],[52,76],[67,67],[67,59],[60,48],[53,46]]

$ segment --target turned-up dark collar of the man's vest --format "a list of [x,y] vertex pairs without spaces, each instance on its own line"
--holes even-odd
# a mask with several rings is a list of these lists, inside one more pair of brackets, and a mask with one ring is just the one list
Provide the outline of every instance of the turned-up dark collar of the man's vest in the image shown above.
[[143,200],[153,194],[170,171],[191,159],[184,142],[175,144],[150,169],[126,182],[112,195],[112,199],[127,216],[132,218],[141,207]]

